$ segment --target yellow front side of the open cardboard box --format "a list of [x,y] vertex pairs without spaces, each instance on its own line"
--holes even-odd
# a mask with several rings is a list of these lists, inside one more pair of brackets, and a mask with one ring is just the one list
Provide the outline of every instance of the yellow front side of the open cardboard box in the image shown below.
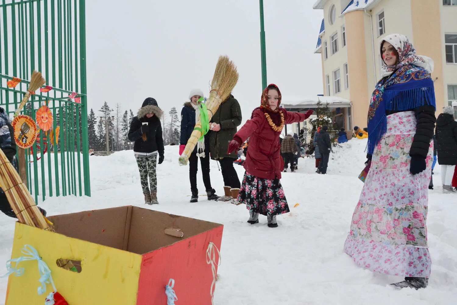
[[[136,304],[141,255],[16,223],[11,257],[22,256],[24,245],[37,249],[70,305]],[[59,268],[58,258],[81,260],[81,273]],[[5,305],[44,304],[53,288],[48,285],[46,294],[37,294],[37,262],[21,262],[19,267],[25,268],[25,274],[10,275]]]

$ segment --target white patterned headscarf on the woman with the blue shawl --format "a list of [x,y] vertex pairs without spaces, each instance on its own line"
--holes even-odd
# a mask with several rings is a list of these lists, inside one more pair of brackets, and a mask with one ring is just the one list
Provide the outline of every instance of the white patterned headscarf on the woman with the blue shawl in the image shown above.
[[423,68],[428,71],[428,73],[433,72],[433,59],[424,55],[416,55],[416,50],[413,47],[413,44],[409,42],[408,37],[402,34],[390,34],[384,37],[380,42],[380,50],[382,56],[383,43],[387,41],[392,44],[397,53],[399,54],[398,63],[394,66],[388,66],[382,60],[381,75],[383,77],[389,76],[393,71],[407,65],[414,64],[417,67]]

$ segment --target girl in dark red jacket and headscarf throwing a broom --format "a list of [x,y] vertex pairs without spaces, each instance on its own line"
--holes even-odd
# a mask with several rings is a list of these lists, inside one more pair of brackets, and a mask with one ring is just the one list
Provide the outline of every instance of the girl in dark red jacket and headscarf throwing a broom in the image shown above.
[[228,145],[228,152],[238,149],[249,137],[249,150],[243,166],[243,182],[238,196],[240,203],[245,203],[249,210],[248,223],[259,223],[259,214],[267,216],[268,226],[276,228],[276,215],[289,212],[284,190],[282,189],[281,171],[284,160],[280,155],[279,135],[284,124],[302,122],[312,113],[287,112],[280,108],[281,92],[274,85],[268,85],[262,93],[260,107],[252,112],[241,129]]

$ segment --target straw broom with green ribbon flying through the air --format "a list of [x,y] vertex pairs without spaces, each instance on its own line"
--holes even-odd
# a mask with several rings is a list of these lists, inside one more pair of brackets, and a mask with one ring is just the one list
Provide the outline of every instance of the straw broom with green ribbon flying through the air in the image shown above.
[[[211,82],[211,91],[206,102],[209,120],[211,120],[219,106],[230,95],[237,82],[238,72],[235,64],[228,59],[227,56],[219,56],[218,64],[216,65],[216,70],[214,70],[213,80]],[[179,163],[181,165],[187,164],[189,156],[193,152],[195,145],[197,145],[198,139],[202,136],[202,132],[197,130],[197,128],[202,130],[202,122],[200,119],[195,123],[195,129],[192,131],[191,137],[187,141],[186,148],[179,158]]]

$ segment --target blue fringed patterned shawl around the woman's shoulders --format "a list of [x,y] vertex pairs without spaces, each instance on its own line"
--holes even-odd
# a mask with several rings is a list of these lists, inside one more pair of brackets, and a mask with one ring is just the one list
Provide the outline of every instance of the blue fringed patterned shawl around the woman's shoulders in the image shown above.
[[380,80],[368,109],[368,154],[373,154],[387,131],[386,110],[406,111],[424,105],[436,108],[433,81],[427,70],[408,64]]

